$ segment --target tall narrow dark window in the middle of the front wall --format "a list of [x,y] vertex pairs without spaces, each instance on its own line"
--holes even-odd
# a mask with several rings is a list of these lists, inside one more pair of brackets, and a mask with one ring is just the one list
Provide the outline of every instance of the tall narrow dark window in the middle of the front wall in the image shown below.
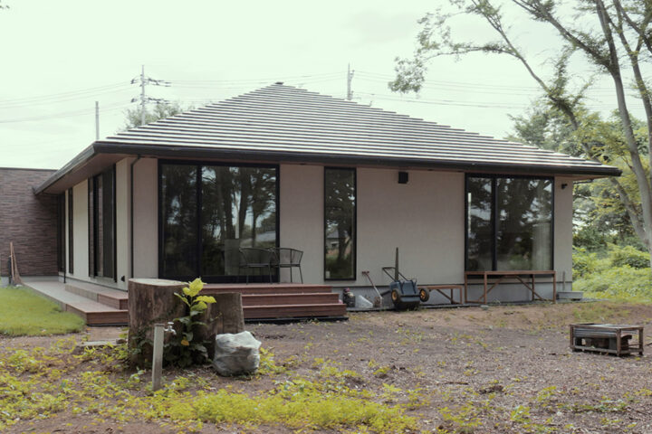
[[324,278],[356,275],[355,169],[324,169]]

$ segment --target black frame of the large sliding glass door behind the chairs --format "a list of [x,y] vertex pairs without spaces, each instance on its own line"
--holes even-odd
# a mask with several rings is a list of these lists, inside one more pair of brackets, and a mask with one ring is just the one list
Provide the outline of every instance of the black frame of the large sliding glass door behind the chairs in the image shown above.
[[[195,165],[197,167],[197,264],[196,271],[197,274],[194,276],[165,276],[163,273],[163,219],[161,215],[161,206],[163,203],[163,179],[162,179],[162,165]],[[217,165],[222,167],[256,167],[263,169],[274,169],[276,171],[276,194],[274,197],[274,207],[276,209],[276,222],[275,222],[275,231],[276,231],[276,241],[275,247],[281,245],[281,166],[274,164],[256,164],[256,163],[241,163],[233,161],[211,161],[211,160],[178,160],[178,159],[158,159],[157,166],[157,185],[158,185],[158,277],[159,278],[168,278],[181,281],[189,281],[194,278],[201,277],[206,283],[234,283],[238,280],[245,279],[245,275],[242,276],[202,276],[201,271],[201,260],[202,260],[202,215],[201,210],[203,208],[203,193],[201,189],[202,185],[202,170],[201,168],[208,165]],[[275,273],[273,271],[273,273]],[[255,282],[258,280],[258,276],[250,276],[250,282]],[[278,275],[272,275],[273,281],[278,281]],[[260,281],[267,281],[266,276],[261,276]]]

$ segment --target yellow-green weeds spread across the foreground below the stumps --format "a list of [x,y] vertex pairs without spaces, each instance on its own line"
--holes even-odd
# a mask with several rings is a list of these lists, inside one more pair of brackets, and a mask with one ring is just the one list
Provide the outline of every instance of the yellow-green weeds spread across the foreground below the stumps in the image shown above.
[[[261,425],[298,432],[398,434],[419,429],[417,418],[406,411],[424,398],[395,403],[393,398],[401,393],[411,397],[414,391],[350,388],[352,373],[325,361],[316,377],[288,372],[254,393],[235,391],[232,386],[242,381],[237,379],[216,390],[206,381],[211,375],[188,371],[186,376],[166,379],[163,389],[151,392],[148,373],[129,375],[122,370],[124,344],[79,355],[72,354],[73,348],[72,339],[53,343],[49,349],[0,348],[0,430],[21,420],[51,419],[64,411],[91,415],[95,422],[112,426],[138,420],[178,432],[200,431],[204,423],[235,424],[242,428],[238,432],[257,432]],[[270,358],[271,353],[263,357]],[[258,373],[248,381],[255,383],[264,376]]]

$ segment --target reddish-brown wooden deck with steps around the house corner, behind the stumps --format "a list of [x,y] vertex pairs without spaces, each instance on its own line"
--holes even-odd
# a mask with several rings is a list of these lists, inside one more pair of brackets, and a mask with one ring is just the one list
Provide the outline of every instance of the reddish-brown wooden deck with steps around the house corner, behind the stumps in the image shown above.
[[[81,316],[87,325],[128,325],[126,291],[84,282],[29,281],[27,286],[51,298],[62,310]],[[346,307],[331,287],[304,284],[206,284],[202,294],[239,292],[245,320],[346,318]]]

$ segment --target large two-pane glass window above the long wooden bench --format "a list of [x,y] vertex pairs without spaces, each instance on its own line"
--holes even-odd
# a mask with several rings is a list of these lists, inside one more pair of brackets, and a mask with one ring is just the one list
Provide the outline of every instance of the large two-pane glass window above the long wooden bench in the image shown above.
[[552,268],[552,180],[466,178],[466,269]]

